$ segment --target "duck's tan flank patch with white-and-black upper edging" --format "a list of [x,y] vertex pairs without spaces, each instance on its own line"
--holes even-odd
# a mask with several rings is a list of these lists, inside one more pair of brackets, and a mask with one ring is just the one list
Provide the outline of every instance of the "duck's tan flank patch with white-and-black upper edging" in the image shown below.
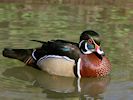
[[40,58],[37,65],[52,75],[74,77],[75,61],[66,56],[46,55]]

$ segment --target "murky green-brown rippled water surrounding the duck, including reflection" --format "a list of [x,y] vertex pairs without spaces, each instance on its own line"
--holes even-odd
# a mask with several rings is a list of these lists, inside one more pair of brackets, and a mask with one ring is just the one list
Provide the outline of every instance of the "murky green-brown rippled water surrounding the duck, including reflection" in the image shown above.
[[0,55],[0,100],[133,100],[132,0],[0,0],[0,52],[35,48],[29,40],[78,41],[83,30],[101,34],[110,76],[65,78]]

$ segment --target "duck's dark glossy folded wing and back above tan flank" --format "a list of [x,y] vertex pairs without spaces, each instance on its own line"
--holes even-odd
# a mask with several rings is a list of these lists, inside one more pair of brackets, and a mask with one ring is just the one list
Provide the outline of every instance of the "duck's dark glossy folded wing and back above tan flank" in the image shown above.
[[42,43],[42,47],[36,49],[34,53],[37,59],[40,59],[45,55],[59,55],[67,56],[77,61],[81,53],[78,48],[78,43],[75,42],[70,42],[66,40],[51,40],[48,42],[38,40],[34,41]]

